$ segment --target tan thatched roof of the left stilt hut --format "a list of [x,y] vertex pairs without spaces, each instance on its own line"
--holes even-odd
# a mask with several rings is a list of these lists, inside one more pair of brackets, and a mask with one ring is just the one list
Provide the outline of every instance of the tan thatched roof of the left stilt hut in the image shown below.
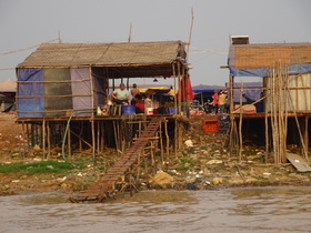
[[18,68],[161,64],[171,63],[180,52],[184,52],[181,41],[42,43]]

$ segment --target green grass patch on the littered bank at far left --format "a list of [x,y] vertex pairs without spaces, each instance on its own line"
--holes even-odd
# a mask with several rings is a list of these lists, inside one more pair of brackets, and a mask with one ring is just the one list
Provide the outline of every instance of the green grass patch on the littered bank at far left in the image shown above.
[[0,164],[0,173],[66,173],[68,170],[82,169],[82,164],[74,164],[69,162],[58,161],[41,161],[33,163],[11,163]]

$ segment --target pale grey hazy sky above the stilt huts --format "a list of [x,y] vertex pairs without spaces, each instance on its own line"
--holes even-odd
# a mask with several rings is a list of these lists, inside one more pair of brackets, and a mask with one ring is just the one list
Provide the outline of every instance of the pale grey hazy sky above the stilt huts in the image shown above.
[[190,41],[192,85],[224,85],[230,36],[311,42],[310,9],[310,0],[0,0],[0,81],[16,79],[40,43],[127,42],[131,26],[132,42]]

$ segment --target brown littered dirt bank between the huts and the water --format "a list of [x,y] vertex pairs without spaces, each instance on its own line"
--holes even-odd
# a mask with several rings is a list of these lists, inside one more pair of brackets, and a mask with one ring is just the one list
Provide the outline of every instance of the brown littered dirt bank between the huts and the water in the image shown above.
[[[244,151],[245,155],[242,161],[238,161],[238,158],[229,158],[224,148],[225,132],[213,133],[202,130],[202,121],[207,118],[210,119],[207,115],[191,116],[191,128],[187,136],[193,146],[184,146],[178,154],[181,158],[178,161],[167,161],[168,165],[164,171],[165,175],[170,176],[171,183],[163,183],[160,189],[169,186],[198,190],[215,186],[311,184],[311,173],[299,173],[290,163],[278,165],[263,163],[264,152],[261,149],[252,148]],[[16,123],[14,114],[1,114],[0,164],[42,160],[40,155],[31,155],[31,150],[30,154],[21,158],[24,140],[27,139],[23,139],[22,126]],[[184,158],[188,161],[183,161]],[[86,189],[89,183],[99,180],[101,175],[102,171],[92,163],[83,171],[70,171],[68,174],[0,173],[0,195],[52,190],[71,193]],[[147,178],[140,179],[141,184],[148,182]],[[159,189],[157,185],[151,185],[151,188]]]

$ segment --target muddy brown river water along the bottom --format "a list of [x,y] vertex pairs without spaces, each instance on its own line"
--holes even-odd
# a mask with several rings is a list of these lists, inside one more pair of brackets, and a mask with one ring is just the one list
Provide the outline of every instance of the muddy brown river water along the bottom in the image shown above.
[[0,197],[0,232],[311,232],[311,188],[148,191],[101,204]]

